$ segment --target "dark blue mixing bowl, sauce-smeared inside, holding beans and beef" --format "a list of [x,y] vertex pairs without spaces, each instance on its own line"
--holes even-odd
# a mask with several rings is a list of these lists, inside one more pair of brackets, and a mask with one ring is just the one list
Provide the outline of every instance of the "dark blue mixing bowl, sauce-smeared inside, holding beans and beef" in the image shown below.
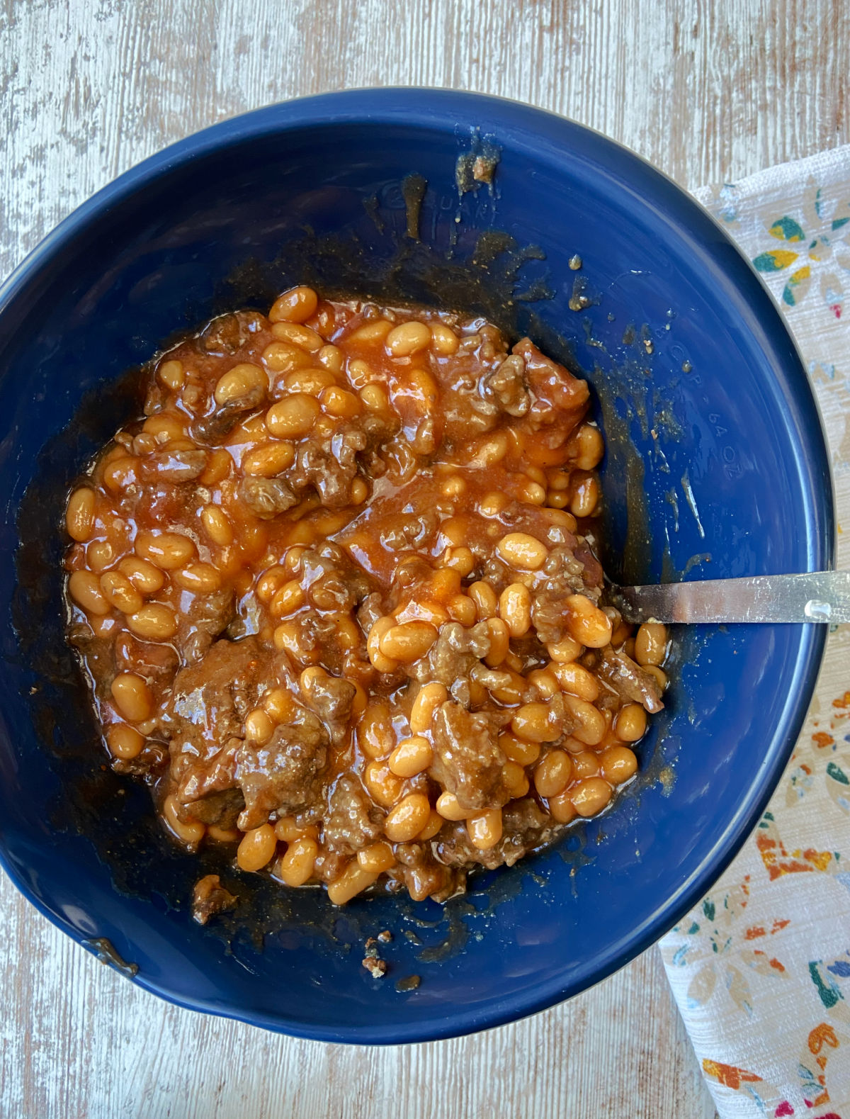
[[[471,173],[476,157],[492,182]],[[767,292],[699,206],[603,137],[482,96],[360,91],[218,124],[102,190],[2,289],[6,871],[180,1005],[325,1041],[462,1034],[596,982],[711,886],[787,761],[825,632],[677,632],[640,780],[445,910],[339,911],[225,868],[240,905],[199,928],[188,900],[214,856],[172,847],[147,790],[103,764],[63,639],[59,523],[74,476],[139,407],[128,370],[176,330],[301,281],[481,311],[585,369],[616,579],[829,567],[822,429]],[[391,970],[376,981],[362,942],[385,928]]]

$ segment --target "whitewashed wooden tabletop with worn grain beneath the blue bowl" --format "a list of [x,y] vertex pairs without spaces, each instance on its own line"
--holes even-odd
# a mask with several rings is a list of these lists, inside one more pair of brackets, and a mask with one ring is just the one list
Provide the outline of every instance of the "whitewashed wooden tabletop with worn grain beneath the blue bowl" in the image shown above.
[[[6,0],[0,273],[172,140],[273,101],[442,85],[531,102],[686,187],[850,140],[841,0]],[[0,1117],[714,1115],[657,951],[535,1018],[355,1050],[181,1010],[0,875]]]

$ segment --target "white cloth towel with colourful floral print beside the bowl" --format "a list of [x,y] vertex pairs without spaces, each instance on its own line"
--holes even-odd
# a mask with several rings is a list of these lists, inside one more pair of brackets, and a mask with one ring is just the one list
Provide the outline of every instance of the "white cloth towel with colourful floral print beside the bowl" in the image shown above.
[[[782,308],[832,455],[850,568],[850,145],[697,198]],[[661,941],[722,1119],[850,1119],[850,626],[754,835]]]

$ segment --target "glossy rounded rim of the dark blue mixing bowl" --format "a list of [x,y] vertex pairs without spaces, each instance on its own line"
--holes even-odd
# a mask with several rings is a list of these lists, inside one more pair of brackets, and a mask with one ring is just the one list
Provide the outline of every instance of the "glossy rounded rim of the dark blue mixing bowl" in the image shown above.
[[[368,124],[370,126],[403,124],[436,131],[445,129],[448,124],[456,126],[459,121],[474,120],[476,110],[482,116],[501,114],[507,117],[506,132],[516,130],[520,125],[528,137],[539,137],[545,131],[547,142],[559,147],[563,152],[569,152],[570,141],[574,143],[580,141],[589,149],[596,148],[599,152],[607,153],[608,158],[616,158],[625,161],[626,164],[642,167],[644,176],[654,181],[660,192],[667,192],[680,209],[690,210],[695,217],[699,217],[703,225],[709,223],[706,227],[714,227],[719,246],[726,253],[731,248],[738,264],[745,265],[745,267],[739,269],[740,279],[737,286],[743,294],[746,293],[745,302],[750,311],[757,312],[758,321],[767,328],[765,333],[769,333],[774,349],[772,364],[774,368],[782,368],[788,374],[790,379],[793,380],[792,389],[796,399],[809,408],[813,406],[818,417],[819,429],[816,432],[811,432],[812,453],[821,460],[819,467],[822,477],[827,479],[827,486],[823,492],[811,495],[810,504],[802,511],[808,533],[809,570],[831,568],[834,565],[835,554],[835,514],[831,464],[823,421],[796,341],[762,278],[720,223],[663,171],[602,132],[578,124],[558,113],[516,100],[438,87],[365,87],[273,103],[219,121],[148,157],[102,187],[68,214],[31,250],[0,285],[0,322],[6,308],[30,282],[34,274],[38,273],[42,264],[47,263],[54,254],[69,246],[77,234],[87,228],[100,214],[143,189],[148,182],[176,170],[178,167],[214,151],[244,144],[252,138],[268,134],[344,124]],[[516,132],[511,134],[513,137]],[[717,246],[706,245],[703,247],[708,255],[717,256]],[[755,309],[753,308],[754,303],[758,304]],[[781,355],[783,349],[784,357]],[[793,745],[802,730],[823,658],[827,630],[828,627],[822,626],[811,626],[804,629],[794,662],[794,687],[790,689],[790,698],[783,708],[783,716],[774,736],[774,742],[778,744],[773,750],[773,756],[763,764],[759,782],[754,782],[748,797],[739,805],[712,850],[702,859],[690,877],[681,884],[679,890],[668,896],[663,904],[644,921],[642,927],[630,931],[627,938],[621,938],[621,941],[612,946],[604,957],[595,958],[594,966],[586,968],[569,984],[564,985],[557,979],[540,982],[519,994],[490,1003],[485,1010],[463,1009],[443,1018],[432,1017],[400,1025],[388,1023],[380,1026],[339,1026],[333,1024],[315,1025],[284,1015],[271,1015],[233,1005],[223,1006],[220,1003],[212,1003],[200,997],[185,997],[169,989],[167,984],[152,981],[141,974],[134,976],[132,981],[160,998],[187,1009],[234,1018],[249,1025],[263,1026],[274,1032],[299,1037],[359,1044],[400,1044],[461,1036],[537,1014],[588,989],[654,944],[714,886],[740,850],[775,791]],[[793,700],[791,699],[792,695],[795,696]],[[50,910],[34,894],[25,875],[19,872],[17,864],[9,857],[1,838],[0,866],[16,887],[44,916],[88,951],[95,952],[94,946],[88,943],[79,931],[74,929],[60,913]],[[627,944],[624,944],[623,942],[626,940]]]

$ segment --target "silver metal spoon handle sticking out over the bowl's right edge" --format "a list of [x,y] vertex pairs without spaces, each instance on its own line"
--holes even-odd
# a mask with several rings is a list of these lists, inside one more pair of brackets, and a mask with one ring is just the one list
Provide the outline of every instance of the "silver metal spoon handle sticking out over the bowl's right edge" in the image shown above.
[[612,599],[629,622],[850,622],[850,571],[621,586]]

